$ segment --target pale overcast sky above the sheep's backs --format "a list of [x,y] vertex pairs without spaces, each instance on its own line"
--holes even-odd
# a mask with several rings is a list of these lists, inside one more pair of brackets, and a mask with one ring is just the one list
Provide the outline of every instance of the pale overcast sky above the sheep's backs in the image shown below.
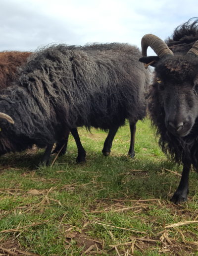
[[51,43],[161,39],[191,17],[198,0],[0,0],[0,51],[35,51]]

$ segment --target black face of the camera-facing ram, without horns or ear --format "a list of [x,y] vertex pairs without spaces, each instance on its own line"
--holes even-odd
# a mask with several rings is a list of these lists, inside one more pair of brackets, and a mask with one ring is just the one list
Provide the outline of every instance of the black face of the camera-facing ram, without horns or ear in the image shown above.
[[166,128],[174,135],[186,136],[198,118],[197,62],[172,56],[159,61],[155,71]]

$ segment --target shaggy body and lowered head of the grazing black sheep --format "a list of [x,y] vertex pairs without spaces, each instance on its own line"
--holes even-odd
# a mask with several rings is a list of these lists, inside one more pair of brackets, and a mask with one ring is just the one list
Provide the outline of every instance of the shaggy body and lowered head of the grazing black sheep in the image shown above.
[[[145,117],[148,71],[137,47],[54,45],[38,51],[0,95],[0,154],[48,145],[86,126],[112,130]],[[2,116],[5,118],[5,116]],[[114,136],[114,134],[113,134]]]

